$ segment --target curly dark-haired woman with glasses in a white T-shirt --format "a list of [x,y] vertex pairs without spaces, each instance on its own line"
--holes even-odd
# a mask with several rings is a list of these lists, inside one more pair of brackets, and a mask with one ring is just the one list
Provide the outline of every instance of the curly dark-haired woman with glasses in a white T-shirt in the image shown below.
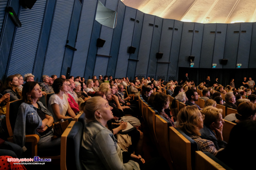
[[54,121],[60,121],[61,119],[67,120],[75,117],[74,111],[71,109],[65,92],[68,91],[68,84],[66,79],[57,78],[53,84],[54,93],[51,95],[48,102],[48,109],[51,113],[54,113]]

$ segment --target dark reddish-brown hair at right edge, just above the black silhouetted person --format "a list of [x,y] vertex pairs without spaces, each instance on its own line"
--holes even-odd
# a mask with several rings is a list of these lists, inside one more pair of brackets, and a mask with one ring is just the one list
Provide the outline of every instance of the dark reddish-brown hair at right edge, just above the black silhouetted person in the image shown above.
[[256,107],[250,101],[243,102],[240,103],[239,106],[237,107],[237,113],[238,114],[236,114],[236,119],[247,120],[251,115],[256,114]]

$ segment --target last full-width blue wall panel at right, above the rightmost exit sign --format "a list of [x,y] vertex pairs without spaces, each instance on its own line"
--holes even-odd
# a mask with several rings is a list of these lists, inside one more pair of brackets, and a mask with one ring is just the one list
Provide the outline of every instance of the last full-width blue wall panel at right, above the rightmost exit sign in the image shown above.
[[[244,32],[246,31],[246,32]],[[252,23],[241,23],[240,38],[237,53],[237,63],[242,64],[241,68],[248,68],[250,56]]]

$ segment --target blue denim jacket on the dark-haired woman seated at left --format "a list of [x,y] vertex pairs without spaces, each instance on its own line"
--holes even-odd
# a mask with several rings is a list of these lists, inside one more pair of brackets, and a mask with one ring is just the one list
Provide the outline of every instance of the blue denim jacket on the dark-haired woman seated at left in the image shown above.
[[[40,101],[38,101],[37,104],[42,112],[48,114],[49,116],[53,116],[52,113],[50,113]],[[23,147],[25,145],[26,135],[39,135],[36,130],[40,126],[42,126],[42,120],[37,114],[37,108],[32,104],[27,104],[25,102],[21,103],[13,130],[14,142]]]

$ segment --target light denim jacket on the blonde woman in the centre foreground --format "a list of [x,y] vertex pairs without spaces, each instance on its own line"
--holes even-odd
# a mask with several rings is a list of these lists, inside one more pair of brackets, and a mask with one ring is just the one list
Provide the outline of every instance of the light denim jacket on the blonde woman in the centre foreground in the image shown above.
[[86,170],[140,170],[132,160],[123,164],[114,134],[97,121],[85,125],[80,153]]

